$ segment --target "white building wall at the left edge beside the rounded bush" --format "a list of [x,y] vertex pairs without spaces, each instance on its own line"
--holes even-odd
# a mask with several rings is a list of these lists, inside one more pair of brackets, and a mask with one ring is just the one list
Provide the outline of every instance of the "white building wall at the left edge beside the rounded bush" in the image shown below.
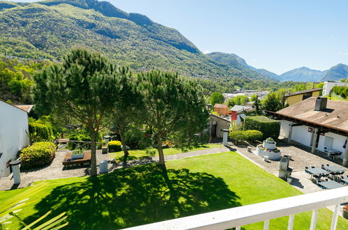
[[28,114],[0,101],[0,177],[8,176],[8,160],[15,160],[18,151],[29,145]]

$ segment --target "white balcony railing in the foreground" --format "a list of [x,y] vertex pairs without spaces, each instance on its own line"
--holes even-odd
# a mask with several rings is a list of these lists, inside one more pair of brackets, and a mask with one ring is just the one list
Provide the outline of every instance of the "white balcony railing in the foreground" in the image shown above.
[[288,230],[293,228],[294,215],[312,210],[310,229],[315,229],[319,208],[335,206],[331,230],[336,229],[340,204],[348,202],[348,186],[324,190],[248,206],[228,208],[211,213],[181,217],[130,229],[241,229],[243,225],[264,221],[268,229],[269,220],[289,215]]

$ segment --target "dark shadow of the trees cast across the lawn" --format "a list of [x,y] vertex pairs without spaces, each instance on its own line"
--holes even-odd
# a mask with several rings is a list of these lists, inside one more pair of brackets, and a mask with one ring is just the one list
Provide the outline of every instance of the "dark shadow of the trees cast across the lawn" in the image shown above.
[[[169,180],[169,181],[168,181]],[[222,178],[158,164],[123,168],[55,187],[35,208],[68,213],[68,229],[120,229],[241,206]]]

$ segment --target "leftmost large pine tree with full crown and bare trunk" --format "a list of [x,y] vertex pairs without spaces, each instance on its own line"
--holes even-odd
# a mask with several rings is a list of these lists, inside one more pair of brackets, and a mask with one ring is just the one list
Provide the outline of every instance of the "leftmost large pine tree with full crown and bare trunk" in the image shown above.
[[74,49],[34,76],[36,111],[72,116],[86,125],[91,135],[91,176],[97,175],[96,138],[105,114],[119,95],[116,67],[99,53]]

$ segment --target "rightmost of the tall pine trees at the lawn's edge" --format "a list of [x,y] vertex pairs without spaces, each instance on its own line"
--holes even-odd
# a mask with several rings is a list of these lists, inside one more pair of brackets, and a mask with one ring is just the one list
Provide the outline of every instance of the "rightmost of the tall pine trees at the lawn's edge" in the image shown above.
[[195,134],[208,123],[202,87],[172,72],[146,72],[138,79],[144,96],[142,119],[153,129],[159,164],[165,168],[162,142],[170,137],[178,147],[192,146]]

